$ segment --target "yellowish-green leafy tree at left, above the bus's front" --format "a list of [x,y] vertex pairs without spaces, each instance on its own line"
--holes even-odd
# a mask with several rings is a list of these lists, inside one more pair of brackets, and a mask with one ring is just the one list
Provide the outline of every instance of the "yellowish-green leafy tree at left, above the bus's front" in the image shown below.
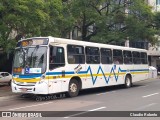
[[0,46],[4,52],[15,47],[15,39],[62,34],[60,0],[0,0]]

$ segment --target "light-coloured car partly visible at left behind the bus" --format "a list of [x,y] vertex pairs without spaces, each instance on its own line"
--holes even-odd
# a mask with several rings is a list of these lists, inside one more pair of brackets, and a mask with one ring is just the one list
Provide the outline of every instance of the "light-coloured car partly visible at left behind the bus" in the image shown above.
[[8,85],[11,85],[12,81],[12,75],[8,72],[0,72],[0,84],[1,83],[7,83]]

